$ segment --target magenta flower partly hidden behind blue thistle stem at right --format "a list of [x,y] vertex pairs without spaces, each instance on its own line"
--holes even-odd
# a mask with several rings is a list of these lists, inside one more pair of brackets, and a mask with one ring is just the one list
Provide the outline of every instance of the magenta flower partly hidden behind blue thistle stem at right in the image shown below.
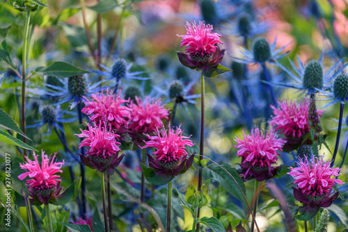
[[[292,151],[300,144],[303,144],[303,138],[310,133],[310,125],[308,121],[309,103],[307,99],[303,102],[283,101],[280,103],[280,108],[271,106],[274,111],[274,116],[271,119],[271,126],[275,126],[275,131],[283,133],[287,138],[285,147]],[[321,117],[323,111],[317,110]]]

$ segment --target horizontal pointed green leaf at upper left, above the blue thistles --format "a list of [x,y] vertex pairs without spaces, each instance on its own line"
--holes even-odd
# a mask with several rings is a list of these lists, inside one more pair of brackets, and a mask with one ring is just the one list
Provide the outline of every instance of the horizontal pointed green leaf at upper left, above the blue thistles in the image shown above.
[[42,73],[43,75],[58,76],[58,77],[70,77],[79,74],[85,74],[88,71],[74,67],[68,63],[57,61],[49,65],[45,69],[36,69],[35,72]]

